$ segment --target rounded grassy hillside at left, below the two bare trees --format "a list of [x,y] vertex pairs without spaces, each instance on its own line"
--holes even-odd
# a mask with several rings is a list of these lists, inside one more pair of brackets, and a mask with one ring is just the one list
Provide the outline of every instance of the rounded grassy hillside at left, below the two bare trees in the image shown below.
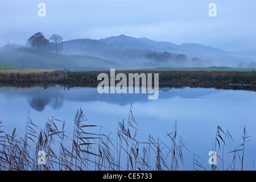
[[14,48],[0,51],[0,64],[34,69],[92,70],[121,68],[114,61],[92,56],[61,55],[30,48]]

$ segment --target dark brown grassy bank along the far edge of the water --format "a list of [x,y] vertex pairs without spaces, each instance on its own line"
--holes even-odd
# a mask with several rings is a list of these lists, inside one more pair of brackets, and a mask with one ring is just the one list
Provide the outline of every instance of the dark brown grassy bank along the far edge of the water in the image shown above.
[[[98,84],[100,73],[110,71],[53,71],[53,70],[14,70],[1,71],[1,83],[52,83],[52,84]],[[160,84],[174,85],[256,85],[254,71],[115,71],[115,74],[125,73],[159,73]],[[154,74],[153,74],[154,76]]]

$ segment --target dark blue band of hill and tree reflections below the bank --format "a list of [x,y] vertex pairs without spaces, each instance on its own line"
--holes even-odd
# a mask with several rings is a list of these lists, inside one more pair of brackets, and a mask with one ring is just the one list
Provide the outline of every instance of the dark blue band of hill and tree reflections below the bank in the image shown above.
[[[209,94],[221,92],[217,89],[203,88],[159,88],[158,99],[168,99],[173,97],[197,98],[205,97]],[[130,105],[131,102],[154,102],[148,100],[148,94],[99,94],[97,88],[71,88],[69,90],[61,86],[55,86],[48,89],[30,88],[0,88],[0,93],[9,97],[21,96],[26,97],[28,104],[35,110],[43,111],[47,105],[53,109],[60,109],[64,100],[72,100],[77,102],[109,102],[117,105]]]

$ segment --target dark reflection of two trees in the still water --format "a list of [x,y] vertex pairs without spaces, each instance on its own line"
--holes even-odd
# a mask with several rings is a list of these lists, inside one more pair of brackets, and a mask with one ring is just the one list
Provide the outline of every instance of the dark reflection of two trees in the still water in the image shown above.
[[28,104],[37,111],[43,111],[49,104],[52,109],[60,109],[63,106],[64,97],[62,94],[56,93],[38,93],[34,94],[28,101]]

